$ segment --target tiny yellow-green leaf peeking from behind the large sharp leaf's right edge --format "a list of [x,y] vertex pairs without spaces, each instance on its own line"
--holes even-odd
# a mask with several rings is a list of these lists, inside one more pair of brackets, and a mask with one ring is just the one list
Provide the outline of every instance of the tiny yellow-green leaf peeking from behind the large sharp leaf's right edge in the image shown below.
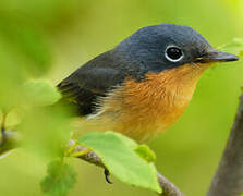
[[147,145],[139,145],[135,152],[148,162],[155,162],[156,155]]

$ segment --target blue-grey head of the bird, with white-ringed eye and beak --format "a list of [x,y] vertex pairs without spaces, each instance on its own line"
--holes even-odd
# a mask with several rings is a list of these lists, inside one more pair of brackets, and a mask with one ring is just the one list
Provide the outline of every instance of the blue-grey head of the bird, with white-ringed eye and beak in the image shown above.
[[187,26],[160,24],[141,28],[113,50],[144,71],[161,72],[183,64],[236,61],[238,56],[220,52]]

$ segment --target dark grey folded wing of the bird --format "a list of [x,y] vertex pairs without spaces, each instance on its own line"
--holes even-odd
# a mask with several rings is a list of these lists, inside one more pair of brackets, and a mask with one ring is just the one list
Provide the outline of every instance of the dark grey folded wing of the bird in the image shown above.
[[81,115],[93,113],[97,99],[106,97],[125,78],[118,68],[106,53],[89,61],[58,85],[63,96],[61,101],[73,103]]

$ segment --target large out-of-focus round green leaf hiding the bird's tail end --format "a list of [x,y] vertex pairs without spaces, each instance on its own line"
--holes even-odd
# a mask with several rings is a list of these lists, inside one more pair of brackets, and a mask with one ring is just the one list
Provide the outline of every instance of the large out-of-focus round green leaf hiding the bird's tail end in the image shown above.
[[45,160],[63,156],[63,148],[72,135],[70,113],[64,109],[51,106],[26,110],[17,125],[25,138],[22,146]]

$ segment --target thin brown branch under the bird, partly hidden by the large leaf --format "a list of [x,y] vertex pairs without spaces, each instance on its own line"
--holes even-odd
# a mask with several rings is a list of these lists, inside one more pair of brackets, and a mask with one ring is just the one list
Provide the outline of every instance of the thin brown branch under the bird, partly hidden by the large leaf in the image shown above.
[[[72,148],[73,145],[75,145],[75,142],[71,140],[70,147]],[[75,149],[73,150],[73,152],[83,152],[86,150],[87,150],[87,148],[77,145],[77,146],[75,146]],[[106,167],[102,163],[99,156],[97,154],[95,154],[94,151],[82,155],[77,158],[83,159],[92,164],[95,164],[95,166],[106,169]],[[160,187],[163,189],[163,193],[161,194],[161,196],[184,196],[184,194],[181,193],[181,191],[173,183],[171,183],[168,179],[162,176],[160,173],[158,173],[157,176],[158,176],[158,182],[160,184]]]

